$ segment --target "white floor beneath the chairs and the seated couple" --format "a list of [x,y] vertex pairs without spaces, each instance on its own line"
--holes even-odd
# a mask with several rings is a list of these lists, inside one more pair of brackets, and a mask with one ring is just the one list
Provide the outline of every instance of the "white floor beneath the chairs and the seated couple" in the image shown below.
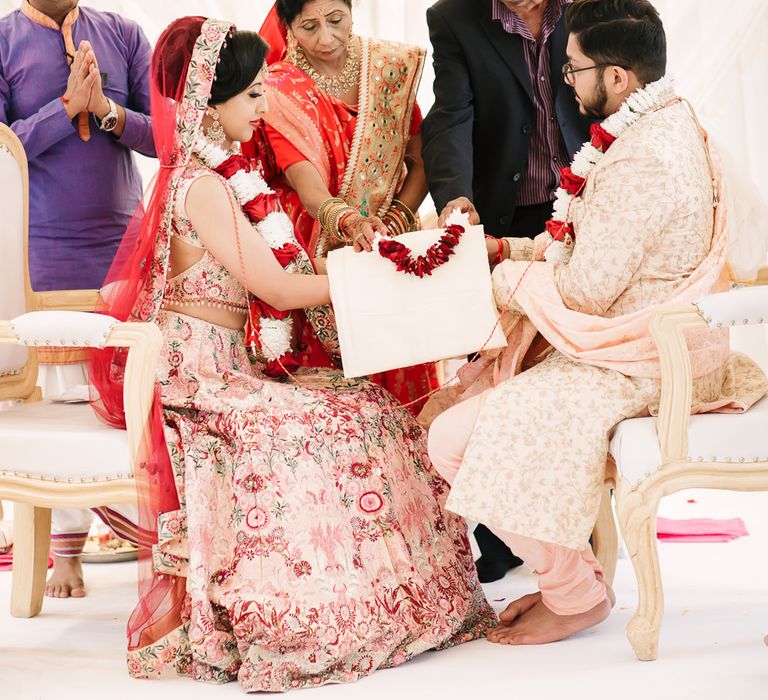
[[[693,499],[695,503],[689,503]],[[618,603],[598,628],[558,644],[510,648],[484,640],[425,654],[348,686],[298,691],[300,697],[365,700],[752,700],[768,698],[768,494],[687,492],[666,499],[668,517],[742,517],[750,536],[729,544],[662,544],[666,617],[659,659],[635,660],[624,628],[635,580],[619,560]],[[86,567],[83,600],[46,600],[31,620],[8,614],[11,576],[0,574],[0,699],[109,700],[234,698],[236,684],[188,679],[133,681],[126,672],[125,621],[135,600],[134,564]],[[529,592],[530,574],[487,586],[501,608]],[[297,695],[294,693],[293,695]]]

